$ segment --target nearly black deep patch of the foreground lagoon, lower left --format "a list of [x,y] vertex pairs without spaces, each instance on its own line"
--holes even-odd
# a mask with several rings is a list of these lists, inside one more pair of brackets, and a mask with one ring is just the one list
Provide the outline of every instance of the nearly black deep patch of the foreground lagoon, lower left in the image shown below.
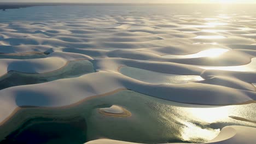
[[83,118],[32,118],[0,143],[83,143],[86,122]]

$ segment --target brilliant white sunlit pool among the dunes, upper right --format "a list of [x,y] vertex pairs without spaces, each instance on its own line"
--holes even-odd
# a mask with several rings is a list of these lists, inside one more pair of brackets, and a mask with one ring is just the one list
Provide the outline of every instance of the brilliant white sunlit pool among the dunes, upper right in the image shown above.
[[223,53],[229,51],[228,49],[208,49],[208,50],[203,50],[198,53],[194,53],[191,55],[165,55],[162,57],[165,58],[199,58],[199,57],[218,57],[222,55]]

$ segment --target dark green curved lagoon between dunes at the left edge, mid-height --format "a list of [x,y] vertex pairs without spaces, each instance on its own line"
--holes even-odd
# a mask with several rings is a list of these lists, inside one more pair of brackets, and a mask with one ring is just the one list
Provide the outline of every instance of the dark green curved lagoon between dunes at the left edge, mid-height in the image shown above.
[[0,77],[0,89],[68,79],[89,73],[94,73],[94,67],[91,62],[86,60],[71,61],[65,65],[65,67],[45,74],[28,74],[18,71],[9,71],[7,75]]

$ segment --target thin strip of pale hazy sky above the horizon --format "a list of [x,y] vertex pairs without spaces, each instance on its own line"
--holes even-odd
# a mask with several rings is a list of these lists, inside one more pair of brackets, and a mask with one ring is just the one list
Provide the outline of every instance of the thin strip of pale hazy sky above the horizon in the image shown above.
[[79,2],[79,3],[256,3],[256,0],[0,0],[0,2]]

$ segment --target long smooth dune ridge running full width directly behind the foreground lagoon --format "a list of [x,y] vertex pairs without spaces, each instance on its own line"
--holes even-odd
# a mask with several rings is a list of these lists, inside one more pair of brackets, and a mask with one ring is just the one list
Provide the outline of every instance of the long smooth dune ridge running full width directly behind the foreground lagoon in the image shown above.
[[217,85],[200,83],[154,85],[129,79],[129,77],[117,73],[98,72],[72,79],[1,90],[0,107],[4,110],[1,111],[1,121],[11,115],[18,106],[58,107],[71,105],[85,98],[109,93],[120,88],[132,89],[152,97],[188,104],[230,105],[245,103],[256,98],[255,92]]

